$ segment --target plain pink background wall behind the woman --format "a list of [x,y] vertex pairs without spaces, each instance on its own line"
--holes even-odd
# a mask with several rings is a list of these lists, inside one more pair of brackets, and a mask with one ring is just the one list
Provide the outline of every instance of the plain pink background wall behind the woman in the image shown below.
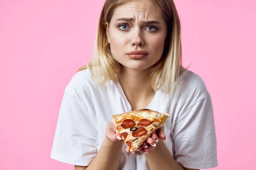
[[[255,168],[256,2],[175,0],[184,65],[205,81],[219,166]],[[0,1],[0,170],[70,170],[49,158],[64,87],[91,56],[103,0]]]

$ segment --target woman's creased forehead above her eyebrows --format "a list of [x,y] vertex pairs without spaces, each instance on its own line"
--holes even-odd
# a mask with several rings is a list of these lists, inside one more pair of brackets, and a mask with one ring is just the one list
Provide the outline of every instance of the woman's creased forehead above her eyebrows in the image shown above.
[[140,20],[164,21],[157,6],[151,0],[129,0],[118,6],[113,13],[112,20],[119,18],[133,18]]

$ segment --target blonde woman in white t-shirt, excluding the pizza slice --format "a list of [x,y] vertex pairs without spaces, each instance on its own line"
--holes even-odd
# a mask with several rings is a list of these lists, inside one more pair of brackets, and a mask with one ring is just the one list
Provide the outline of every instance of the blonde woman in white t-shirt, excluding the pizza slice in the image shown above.
[[[110,121],[144,108],[171,118],[129,153]],[[106,0],[92,61],[65,88],[51,157],[75,170],[217,166],[211,97],[181,65],[173,0]]]

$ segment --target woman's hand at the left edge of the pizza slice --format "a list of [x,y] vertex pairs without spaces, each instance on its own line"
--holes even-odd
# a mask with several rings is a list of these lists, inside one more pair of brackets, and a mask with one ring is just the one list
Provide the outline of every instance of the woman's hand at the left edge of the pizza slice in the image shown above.
[[111,142],[125,143],[121,138],[122,135],[118,130],[116,130],[116,126],[113,122],[108,122],[105,130],[105,136]]

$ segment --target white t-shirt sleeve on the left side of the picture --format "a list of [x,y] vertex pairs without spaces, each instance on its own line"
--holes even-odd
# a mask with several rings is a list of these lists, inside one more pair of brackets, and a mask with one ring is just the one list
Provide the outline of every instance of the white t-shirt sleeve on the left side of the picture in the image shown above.
[[89,102],[65,91],[55,131],[51,158],[88,166],[97,154],[96,117]]

